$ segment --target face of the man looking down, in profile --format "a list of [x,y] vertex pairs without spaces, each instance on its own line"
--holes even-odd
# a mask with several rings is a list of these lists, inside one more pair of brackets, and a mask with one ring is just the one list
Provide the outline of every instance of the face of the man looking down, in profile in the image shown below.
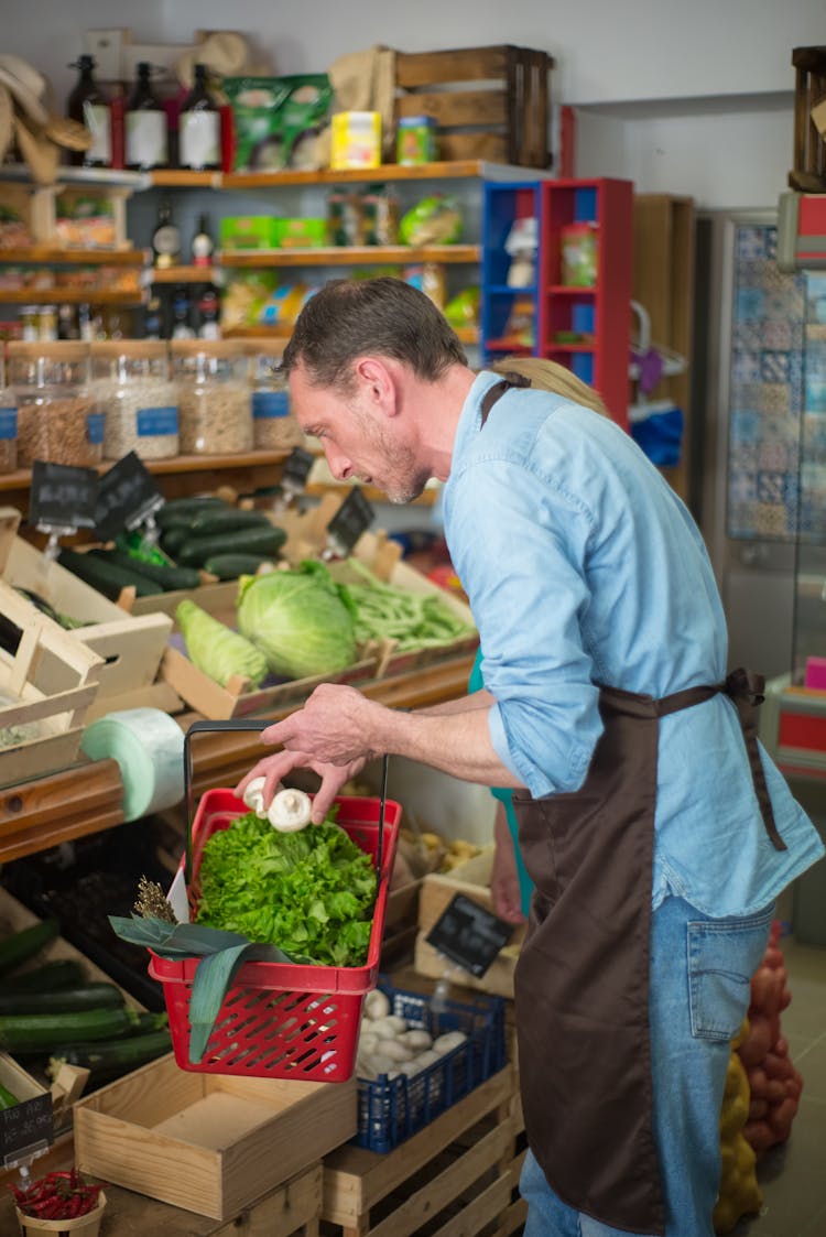
[[336,480],[373,485],[398,503],[422,494],[429,473],[417,463],[401,417],[385,416],[361,390],[347,396],[312,386],[302,365],[289,375],[289,393],[296,419],[319,439]]

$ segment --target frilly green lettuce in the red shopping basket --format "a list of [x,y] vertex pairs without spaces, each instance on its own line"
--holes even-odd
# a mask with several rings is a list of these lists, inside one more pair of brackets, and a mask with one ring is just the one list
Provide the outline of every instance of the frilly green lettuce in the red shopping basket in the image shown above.
[[324,966],[365,964],[376,873],[339,825],[281,834],[247,813],[208,840],[198,876],[195,923]]

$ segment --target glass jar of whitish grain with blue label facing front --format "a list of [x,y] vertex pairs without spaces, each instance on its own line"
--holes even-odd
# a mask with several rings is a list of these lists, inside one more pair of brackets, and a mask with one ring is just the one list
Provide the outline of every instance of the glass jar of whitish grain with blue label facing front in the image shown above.
[[89,345],[92,397],[104,416],[104,459],[178,454],[178,396],[161,339],[103,339]]

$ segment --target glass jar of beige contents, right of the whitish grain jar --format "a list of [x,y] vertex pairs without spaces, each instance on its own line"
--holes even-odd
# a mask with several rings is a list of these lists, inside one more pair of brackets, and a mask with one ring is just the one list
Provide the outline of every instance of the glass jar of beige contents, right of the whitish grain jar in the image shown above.
[[252,449],[249,361],[235,339],[173,339],[182,455],[236,455]]

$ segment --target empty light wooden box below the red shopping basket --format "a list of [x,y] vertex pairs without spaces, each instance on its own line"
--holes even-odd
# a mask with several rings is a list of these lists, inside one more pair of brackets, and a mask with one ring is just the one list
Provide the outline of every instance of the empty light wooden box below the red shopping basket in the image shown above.
[[356,1133],[356,1080],[190,1074],[162,1056],[80,1100],[83,1173],[229,1220]]

